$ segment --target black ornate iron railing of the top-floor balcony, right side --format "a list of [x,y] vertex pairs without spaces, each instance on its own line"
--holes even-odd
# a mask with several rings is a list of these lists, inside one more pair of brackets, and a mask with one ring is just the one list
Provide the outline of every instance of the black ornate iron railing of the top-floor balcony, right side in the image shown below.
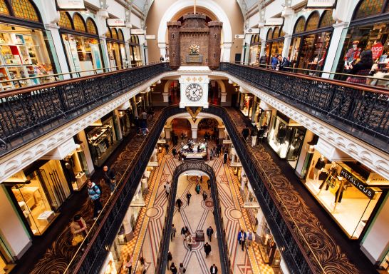
[[219,70],[389,152],[389,92],[384,88],[230,63]]

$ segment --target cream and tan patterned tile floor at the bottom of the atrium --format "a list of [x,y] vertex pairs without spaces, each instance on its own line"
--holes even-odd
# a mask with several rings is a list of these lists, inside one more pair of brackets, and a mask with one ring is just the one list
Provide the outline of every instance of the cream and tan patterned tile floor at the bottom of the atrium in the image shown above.
[[[212,148],[214,144],[210,143],[209,146]],[[159,167],[155,168],[150,176],[152,178],[150,189],[145,198],[147,206],[140,211],[134,238],[126,245],[122,254],[122,258],[125,258],[128,254],[133,255],[133,269],[135,269],[139,258],[143,257],[146,261],[147,273],[154,273],[155,271],[161,233],[165,221],[165,209],[167,207],[167,195],[165,194],[164,185],[167,181],[172,180],[175,167],[179,164],[180,162],[172,158],[171,154],[165,154],[164,152],[163,156],[159,156]],[[222,204],[224,229],[227,233],[229,257],[234,273],[276,273],[269,265],[264,264],[261,259],[259,243],[253,243],[242,250],[237,241],[240,229],[255,231],[254,225],[249,220],[247,209],[242,208],[243,199],[239,191],[240,183],[237,176],[234,175],[228,163],[223,164],[222,157],[215,158],[213,161],[209,161],[208,164],[214,168],[217,176],[217,188],[219,189],[219,197]],[[220,265],[217,239],[212,238],[212,241],[205,239],[205,242],[209,242],[212,248],[212,255],[205,258],[204,242],[194,242],[192,250],[190,250],[187,244],[184,243],[182,235],[180,235],[183,226],[189,228],[193,240],[195,230],[204,230],[205,233],[209,225],[211,225],[214,231],[216,231],[212,214],[213,202],[210,198],[207,178],[203,176],[202,183],[200,183],[201,190],[198,195],[194,191],[195,185],[195,176],[180,176],[176,198],[180,197],[183,205],[180,212],[177,210],[177,206],[175,208],[173,223],[177,233],[170,243],[170,251],[173,258],[172,262],[177,267],[180,263],[183,263],[188,270],[187,273],[209,273],[209,268],[213,263],[217,266]],[[204,191],[208,197],[206,201],[203,201],[202,198]],[[187,204],[187,192],[192,194],[190,205]],[[214,234],[215,236],[217,236],[216,233]],[[124,274],[125,270],[122,273]],[[167,273],[170,273],[170,271]]]

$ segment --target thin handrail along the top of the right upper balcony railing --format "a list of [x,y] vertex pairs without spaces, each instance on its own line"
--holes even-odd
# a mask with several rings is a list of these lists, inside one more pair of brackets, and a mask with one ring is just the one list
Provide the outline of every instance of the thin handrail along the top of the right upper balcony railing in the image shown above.
[[[237,65],[242,65],[242,66],[254,66],[254,67],[259,67],[259,68],[266,68],[266,69],[271,69],[272,71],[276,71],[274,70],[274,68],[272,68],[271,65],[269,64],[250,64],[249,62],[234,62],[232,64],[237,64]],[[333,72],[333,71],[318,71],[316,69],[309,69],[309,68],[294,68],[294,67],[291,67],[291,66],[284,66],[283,68],[286,68],[286,71],[288,71],[289,73],[295,73],[294,71],[306,71],[306,72],[313,72],[313,73],[316,73],[316,74],[331,74],[333,76],[348,76],[348,77],[356,77],[356,78],[365,78],[365,79],[370,79],[370,80],[378,80],[378,81],[389,81],[389,78],[381,78],[381,77],[374,77],[374,76],[364,76],[364,75],[356,75],[356,74],[350,74],[350,73],[343,73],[343,72]],[[282,70],[281,70],[282,71]],[[300,74],[300,73],[298,73]],[[388,73],[388,76],[389,76],[389,73]],[[319,77],[319,78],[323,78],[323,77],[320,77],[320,76],[316,76],[316,77]],[[340,80],[341,81],[341,80]],[[378,83],[377,81],[377,83]],[[375,84],[377,84],[375,83]],[[365,85],[365,86],[373,86],[373,85]],[[388,88],[387,88],[388,89]]]

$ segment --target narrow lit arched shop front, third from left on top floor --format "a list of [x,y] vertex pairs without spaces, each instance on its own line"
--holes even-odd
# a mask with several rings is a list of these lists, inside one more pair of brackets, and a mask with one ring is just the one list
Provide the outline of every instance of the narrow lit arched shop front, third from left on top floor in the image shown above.
[[110,67],[115,69],[123,69],[128,65],[127,56],[125,54],[124,36],[121,29],[108,28],[107,34],[107,49],[110,60]]

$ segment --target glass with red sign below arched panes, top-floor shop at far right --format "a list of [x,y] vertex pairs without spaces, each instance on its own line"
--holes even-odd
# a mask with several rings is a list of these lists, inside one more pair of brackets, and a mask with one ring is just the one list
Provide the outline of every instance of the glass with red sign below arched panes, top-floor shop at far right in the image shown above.
[[[375,72],[373,77],[388,78],[389,68],[389,23],[381,22],[376,24],[368,24],[364,26],[352,26],[347,29],[343,29],[341,36],[343,44],[339,44],[336,62],[333,66],[333,71],[344,72],[345,62],[353,61],[348,59],[349,51],[352,51],[353,42],[358,41],[358,52],[370,49],[373,52],[373,61],[375,64],[372,66],[372,70]],[[347,56],[346,56],[347,55]],[[343,76],[337,76],[339,79],[345,79]],[[368,79],[367,84],[381,87],[389,87],[389,81]]]

